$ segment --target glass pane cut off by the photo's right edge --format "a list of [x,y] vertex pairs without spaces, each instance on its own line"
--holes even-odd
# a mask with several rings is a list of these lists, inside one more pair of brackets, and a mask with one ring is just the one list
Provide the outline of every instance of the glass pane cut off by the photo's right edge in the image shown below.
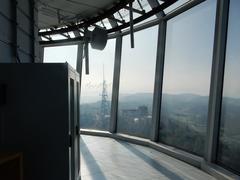
[[240,1],[231,0],[218,162],[240,173]]

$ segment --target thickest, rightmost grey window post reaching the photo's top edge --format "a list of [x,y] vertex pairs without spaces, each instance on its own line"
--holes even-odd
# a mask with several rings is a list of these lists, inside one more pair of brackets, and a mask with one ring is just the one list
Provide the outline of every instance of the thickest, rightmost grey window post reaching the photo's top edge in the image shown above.
[[208,107],[208,124],[204,158],[207,162],[215,162],[217,156],[224,63],[227,40],[229,0],[218,0],[214,36],[211,86]]

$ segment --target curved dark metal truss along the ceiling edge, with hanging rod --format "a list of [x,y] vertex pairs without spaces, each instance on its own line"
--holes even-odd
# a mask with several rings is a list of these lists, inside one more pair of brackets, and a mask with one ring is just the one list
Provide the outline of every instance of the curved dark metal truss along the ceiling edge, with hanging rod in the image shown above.
[[[53,45],[69,45],[69,44],[77,44],[79,41],[84,41],[82,37],[75,37],[69,39],[62,39],[62,40],[52,40],[51,35],[59,34],[62,36],[68,36],[68,32],[74,32],[74,31],[80,31],[80,29],[85,29],[89,26],[96,26],[96,23],[102,23],[103,26],[104,22],[103,19],[108,19],[110,24],[114,23],[114,26],[112,26],[110,29],[106,29],[107,33],[114,33],[114,32],[120,32],[124,28],[130,29],[130,35],[131,35],[131,47],[134,47],[134,25],[144,21],[145,19],[154,16],[154,15],[161,15],[164,9],[174,4],[177,0],[168,0],[165,1],[163,4],[157,4],[156,0],[148,0],[150,6],[152,7],[152,10],[144,13],[143,15],[133,18],[134,9],[132,7],[132,3],[134,0],[124,0],[116,4],[114,7],[109,9],[108,11],[105,11],[104,14],[99,15],[98,17],[86,20],[84,22],[81,22],[79,24],[70,24],[66,25],[64,28],[50,28],[48,31],[41,31],[39,32],[40,37],[47,38],[49,41],[40,41],[40,45],[42,46],[53,46]],[[120,10],[126,9],[128,7],[129,9],[129,21],[125,22],[123,19]],[[139,10],[140,11],[140,10]],[[119,17],[122,18],[122,20],[117,19],[114,17],[114,14],[118,13]],[[118,24],[121,23],[120,25]],[[84,33],[83,33],[84,34]],[[49,38],[48,38],[49,37]]]

